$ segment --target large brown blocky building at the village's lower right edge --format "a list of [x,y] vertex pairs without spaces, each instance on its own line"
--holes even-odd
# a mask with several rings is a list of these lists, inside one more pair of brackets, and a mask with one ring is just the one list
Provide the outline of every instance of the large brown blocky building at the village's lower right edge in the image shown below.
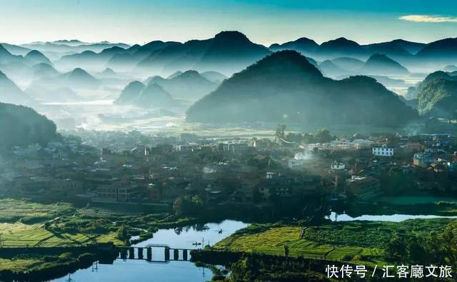
[[346,180],[346,191],[361,200],[368,200],[381,195],[381,184],[378,179],[371,176],[352,176]]

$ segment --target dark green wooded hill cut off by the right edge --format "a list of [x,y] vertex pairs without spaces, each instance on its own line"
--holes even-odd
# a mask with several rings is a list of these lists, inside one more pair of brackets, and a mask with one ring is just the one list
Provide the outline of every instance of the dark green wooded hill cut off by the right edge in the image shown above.
[[418,91],[418,112],[444,119],[457,118],[457,80],[433,79]]

